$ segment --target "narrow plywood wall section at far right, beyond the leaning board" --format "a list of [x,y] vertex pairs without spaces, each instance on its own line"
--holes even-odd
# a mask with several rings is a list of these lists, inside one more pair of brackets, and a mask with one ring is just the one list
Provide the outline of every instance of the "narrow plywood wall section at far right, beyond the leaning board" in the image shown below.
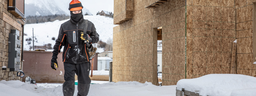
[[237,74],[256,77],[256,64],[253,64],[253,25],[252,2],[256,0],[236,0],[236,64]]

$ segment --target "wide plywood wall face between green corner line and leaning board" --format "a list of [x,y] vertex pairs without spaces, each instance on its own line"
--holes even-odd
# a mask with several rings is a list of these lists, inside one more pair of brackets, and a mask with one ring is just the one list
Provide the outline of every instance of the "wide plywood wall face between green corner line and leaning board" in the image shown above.
[[187,78],[230,73],[234,0],[187,0]]

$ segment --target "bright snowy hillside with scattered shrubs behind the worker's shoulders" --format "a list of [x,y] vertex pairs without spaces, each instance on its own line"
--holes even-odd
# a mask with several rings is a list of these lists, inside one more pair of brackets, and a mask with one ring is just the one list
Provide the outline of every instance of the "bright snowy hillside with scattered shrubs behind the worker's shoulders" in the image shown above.
[[[113,39],[113,27],[116,25],[113,24],[113,18],[100,16],[100,15],[86,15],[84,19],[91,21],[96,28],[97,33],[100,35],[100,40],[107,42],[108,38]],[[68,19],[69,20],[69,19]],[[53,22],[45,22],[39,24],[26,24],[24,26],[24,48],[29,49],[30,46],[33,46],[32,41],[26,41],[26,39],[33,37],[33,28],[35,36],[35,44],[37,46],[42,46],[44,44],[55,44],[55,40],[58,37],[60,25],[68,20],[56,20]],[[56,38],[52,40],[52,38]],[[31,44],[29,44],[29,42]],[[33,50],[33,49],[32,49]],[[47,50],[50,51],[50,50]],[[62,48],[63,51],[63,48]],[[103,52],[103,48],[98,48],[97,52]]]

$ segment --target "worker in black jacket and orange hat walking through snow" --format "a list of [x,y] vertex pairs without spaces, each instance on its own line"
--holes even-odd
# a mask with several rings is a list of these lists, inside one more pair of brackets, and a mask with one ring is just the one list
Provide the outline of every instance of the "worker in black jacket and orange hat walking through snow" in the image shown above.
[[[86,96],[89,92],[91,79],[89,71],[91,63],[87,44],[97,43],[99,35],[91,21],[84,20],[83,6],[80,1],[72,0],[69,4],[70,20],[61,24],[59,36],[53,47],[51,67],[58,68],[57,56],[64,46],[62,60],[64,63],[64,96],[73,96],[75,91],[75,73],[78,79],[77,96]],[[84,29],[87,28],[87,29]],[[86,32],[86,33],[84,33]],[[89,42],[89,43],[88,43]],[[87,43],[87,44],[86,44]]]

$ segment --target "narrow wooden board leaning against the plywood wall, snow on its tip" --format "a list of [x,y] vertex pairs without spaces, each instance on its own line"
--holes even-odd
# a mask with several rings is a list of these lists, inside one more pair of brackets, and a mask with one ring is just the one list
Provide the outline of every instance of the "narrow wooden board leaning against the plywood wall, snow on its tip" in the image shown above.
[[236,74],[236,43],[233,42],[230,74]]

